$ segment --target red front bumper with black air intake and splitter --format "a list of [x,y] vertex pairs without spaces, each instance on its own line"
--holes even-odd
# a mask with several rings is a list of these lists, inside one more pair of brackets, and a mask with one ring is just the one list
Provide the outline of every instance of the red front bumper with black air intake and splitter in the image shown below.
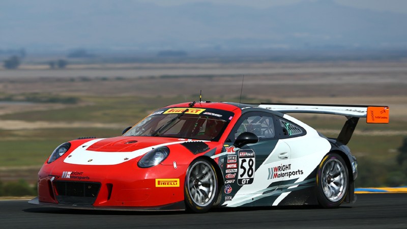
[[[183,210],[187,165],[138,168],[133,163],[109,166],[44,165],[38,197],[31,204],[106,210]],[[157,185],[172,179],[173,185]]]

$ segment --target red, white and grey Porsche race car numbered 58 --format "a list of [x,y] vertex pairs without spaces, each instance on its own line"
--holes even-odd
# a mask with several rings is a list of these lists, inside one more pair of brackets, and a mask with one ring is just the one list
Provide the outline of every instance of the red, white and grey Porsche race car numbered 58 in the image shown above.
[[[345,116],[328,138],[286,113]],[[191,102],[152,112],[122,136],[58,146],[38,173],[43,206],[105,210],[353,203],[358,163],[346,146],[359,118],[388,106]]]

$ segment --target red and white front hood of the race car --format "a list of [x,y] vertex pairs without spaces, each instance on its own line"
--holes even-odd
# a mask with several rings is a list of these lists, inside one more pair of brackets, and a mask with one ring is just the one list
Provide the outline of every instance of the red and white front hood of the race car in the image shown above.
[[182,144],[188,141],[194,140],[168,137],[121,136],[91,139],[79,145],[71,141],[75,146],[72,152],[64,159],[64,163],[81,165],[120,164],[142,156],[157,147]]

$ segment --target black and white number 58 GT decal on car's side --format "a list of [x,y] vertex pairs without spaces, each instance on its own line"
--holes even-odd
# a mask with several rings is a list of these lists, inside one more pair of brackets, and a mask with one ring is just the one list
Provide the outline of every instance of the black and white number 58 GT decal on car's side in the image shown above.
[[239,150],[239,173],[238,184],[247,185],[253,183],[256,155],[251,149]]

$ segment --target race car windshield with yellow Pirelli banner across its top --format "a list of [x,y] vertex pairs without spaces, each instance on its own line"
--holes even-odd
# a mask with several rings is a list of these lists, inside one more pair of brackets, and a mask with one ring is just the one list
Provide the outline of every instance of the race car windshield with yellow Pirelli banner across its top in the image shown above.
[[218,109],[164,108],[141,120],[124,136],[218,140],[233,115]]

